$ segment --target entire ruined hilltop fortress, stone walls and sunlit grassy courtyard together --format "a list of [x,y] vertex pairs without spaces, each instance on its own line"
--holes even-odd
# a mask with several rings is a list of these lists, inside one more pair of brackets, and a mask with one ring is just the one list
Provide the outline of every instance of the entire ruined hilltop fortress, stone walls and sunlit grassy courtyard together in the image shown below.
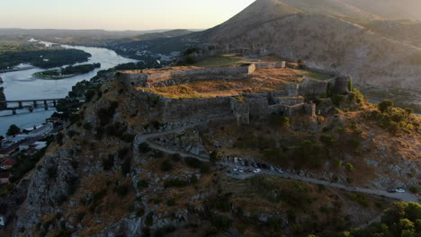
[[[124,71],[117,78],[135,89],[142,100],[159,103],[160,122],[173,127],[213,118],[232,117],[238,125],[268,115],[314,118],[325,110],[318,110],[316,104],[306,101],[318,98],[330,101],[324,99],[327,93],[350,92],[350,76],[310,81],[285,65],[285,62],[268,62],[217,68],[175,67]],[[208,89],[213,86],[211,82],[218,83],[217,89]],[[204,87],[199,96],[167,96],[166,90],[180,91],[192,83]],[[219,89],[223,86],[228,89]]]

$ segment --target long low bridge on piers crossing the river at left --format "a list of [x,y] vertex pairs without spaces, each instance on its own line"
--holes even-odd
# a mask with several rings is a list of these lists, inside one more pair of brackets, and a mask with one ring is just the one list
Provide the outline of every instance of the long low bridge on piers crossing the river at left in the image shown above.
[[0,101],[0,110],[12,110],[12,114],[16,114],[16,110],[28,109],[32,112],[34,109],[43,107],[49,110],[49,107],[55,108],[58,99],[35,99],[35,100],[20,100],[20,101]]

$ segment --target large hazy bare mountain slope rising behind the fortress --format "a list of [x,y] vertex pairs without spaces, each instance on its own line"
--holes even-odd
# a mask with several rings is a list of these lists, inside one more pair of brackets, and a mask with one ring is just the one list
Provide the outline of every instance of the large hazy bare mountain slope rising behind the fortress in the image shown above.
[[302,59],[315,69],[353,75],[356,83],[421,91],[421,50],[347,21],[358,15],[381,19],[348,2],[258,0],[203,35],[230,48]]

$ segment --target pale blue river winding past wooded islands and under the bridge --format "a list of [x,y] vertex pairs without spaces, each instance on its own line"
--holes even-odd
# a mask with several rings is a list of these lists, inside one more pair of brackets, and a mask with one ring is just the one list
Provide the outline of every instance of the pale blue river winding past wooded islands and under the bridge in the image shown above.
[[[47,45],[48,42],[45,42]],[[32,77],[32,74],[44,71],[42,68],[33,68],[30,70],[16,71],[0,74],[4,83],[0,86],[4,87],[6,100],[31,100],[31,99],[49,99],[64,98],[76,83],[90,80],[100,70],[106,70],[114,66],[135,62],[136,60],[121,57],[114,51],[107,48],[94,48],[83,46],[62,45],[63,48],[76,48],[84,50],[92,55],[88,62],[80,64],[100,63],[101,68],[85,74],[63,80],[42,80]],[[80,65],[76,64],[76,65]],[[28,110],[18,110],[17,115],[10,115],[12,112],[5,110],[0,111],[0,136],[4,136],[10,125],[15,124],[21,128],[30,128],[45,122],[45,118],[49,118],[55,110],[50,108],[48,111],[44,109],[34,110],[30,113]]]

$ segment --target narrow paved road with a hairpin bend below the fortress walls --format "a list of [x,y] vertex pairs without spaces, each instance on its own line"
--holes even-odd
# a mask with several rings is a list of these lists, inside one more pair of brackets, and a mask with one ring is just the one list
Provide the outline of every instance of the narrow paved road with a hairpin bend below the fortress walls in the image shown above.
[[[158,136],[166,136],[166,135],[173,134],[173,133],[179,133],[179,132],[184,131],[184,129],[193,128],[193,127],[196,127],[198,125],[202,125],[202,124],[207,123],[207,122],[208,121],[205,121],[205,122],[193,124],[193,125],[186,126],[186,127],[181,127],[181,128],[178,128],[178,129],[175,129],[175,130],[172,130],[172,131],[167,131],[167,132],[161,132],[161,133],[155,133],[155,134],[146,134],[146,135],[138,135],[138,136],[135,137],[134,145],[138,146],[142,143],[148,143],[148,145],[150,147],[152,147],[154,149],[157,149],[159,151],[162,151],[166,154],[180,154],[182,157],[194,157],[194,158],[197,158],[197,159],[201,160],[202,162],[209,162],[209,159],[206,158],[206,157],[202,157],[202,156],[190,154],[190,153],[174,151],[174,150],[168,149],[168,148],[163,147],[161,145],[156,145],[156,144],[148,141],[148,139],[150,139],[150,138],[154,138],[154,137],[158,137]],[[228,167],[228,169],[231,169],[231,170],[232,170],[232,168],[234,168],[237,165],[237,164],[232,163],[232,162],[218,162],[218,164],[226,166],[226,167]],[[288,173],[288,172],[280,173],[280,172],[276,172],[276,171],[265,171],[265,170],[263,170],[261,174],[269,174],[269,175],[281,177],[281,178],[284,178],[284,179],[300,180],[300,181],[303,181],[303,182],[320,184],[320,185],[324,185],[324,186],[331,187],[331,188],[344,189],[344,190],[349,191],[349,192],[357,192],[357,193],[370,194],[370,195],[381,196],[381,197],[386,197],[386,198],[392,198],[392,199],[396,199],[396,200],[400,200],[400,201],[404,201],[404,202],[418,202],[418,198],[415,195],[412,195],[410,193],[389,193],[385,190],[363,189],[363,188],[349,187],[349,186],[345,186],[343,184],[332,183],[332,182],[328,182],[328,181],[325,181],[325,180],[311,179],[311,178],[303,177],[303,176]],[[246,179],[247,177],[251,177],[253,175],[256,175],[256,174],[255,173],[248,173],[248,174],[241,173],[239,176],[237,176],[237,178]]]

